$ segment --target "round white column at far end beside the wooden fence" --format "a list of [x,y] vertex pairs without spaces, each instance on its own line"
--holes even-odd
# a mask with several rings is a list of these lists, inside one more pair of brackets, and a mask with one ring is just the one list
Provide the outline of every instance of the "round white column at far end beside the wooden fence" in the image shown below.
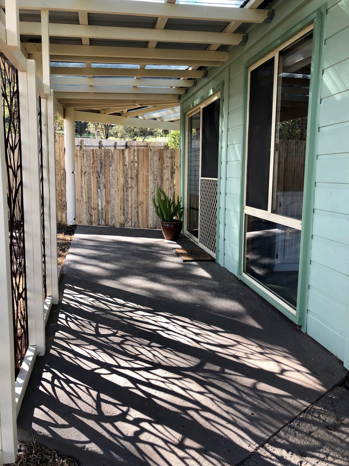
[[74,109],[64,109],[64,147],[66,150],[67,224],[76,225]]

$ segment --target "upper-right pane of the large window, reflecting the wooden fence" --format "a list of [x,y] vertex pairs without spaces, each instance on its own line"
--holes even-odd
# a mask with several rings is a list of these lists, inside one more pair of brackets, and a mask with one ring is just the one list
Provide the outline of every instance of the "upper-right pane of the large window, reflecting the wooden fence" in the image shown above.
[[279,54],[272,212],[302,219],[313,33]]

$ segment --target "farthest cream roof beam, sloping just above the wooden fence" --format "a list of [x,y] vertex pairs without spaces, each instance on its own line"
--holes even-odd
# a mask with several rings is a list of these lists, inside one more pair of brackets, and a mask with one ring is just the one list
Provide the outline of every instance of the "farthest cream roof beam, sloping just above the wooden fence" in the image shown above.
[[142,120],[141,118],[126,118],[116,115],[105,115],[91,112],[74,112],[76,121],[87,121],[91,123],[120,124],[123,126],[133,126],[136,128],[155,128],[160,130],[179,130],[179,123],[160,122],[159,120]]

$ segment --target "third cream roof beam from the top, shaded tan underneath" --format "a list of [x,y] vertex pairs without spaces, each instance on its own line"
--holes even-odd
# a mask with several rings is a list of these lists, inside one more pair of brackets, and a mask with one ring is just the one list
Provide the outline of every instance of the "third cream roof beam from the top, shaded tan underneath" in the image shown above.
[[[27,53],[41,53],[41,44],[34,42],[24,43]],[[228,60],[228,52],[211,52],[206,50],[181,50],[169,48],[137,48],[137,47],[106,47],[100,45],[71,45],[71,44],[51,44],[50,53],[52,55],[70,55],[78,57],[80,60],[86,56],[98,56],[103,59],[118,57],[127,58],[128,60],[146,59],[152,62],[155,60],[177,60],[187,61],[189,63],[196,61],[219,61]],[[90,60],[88,60],[90,61]]]

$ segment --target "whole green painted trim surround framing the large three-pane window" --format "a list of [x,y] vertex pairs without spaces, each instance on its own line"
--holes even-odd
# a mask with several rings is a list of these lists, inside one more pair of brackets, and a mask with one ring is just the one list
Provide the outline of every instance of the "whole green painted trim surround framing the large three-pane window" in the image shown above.
[[[309,288],[309,265],[310,265],[310,247],[311,247],[311,231],[313,224],[313,206],[314,206],[314,191],[315,191],[315,161],[318,133],[319,106],[321,96],[322,82],[322,60],[325,37],[325,19],[326,19],[326,3],[317,8],[312,14],[307,16],[300,23],[286,31],[278,39],[273,41],[256,54],[253,58],[245,63],[244,67],[244,90],[243,90],[243,127],[242,127],[242,176],[240,185],[240,227],[239,227],[239,259],[238,259],[238,275],[237,277],[247,283],[259,295],[263,296],[268,302],[273,304],[283,314],[287,315],[296,324],[302,325],[302,330],[306,330],[306,315],[308,304],[308,288]],[[244,231],[244,192],[245,192],[245,165],[246,165],[246,135],[247,135],[247,102],[248,102],[248,68],[255,62],[261,60],[264,56],[278,48],[282,43],[291,39],[295,34],[309,26],[314,22],[314,40],[313,40],[313,59],[312,59],[312,79],[310,83],[310,105],[309,105],[309,120],[308,120],[308,138],[305,161],[304,174],[304,197],[303,197],[303,212],[302,212],[302,235],[301,235],[301,251],[300,251],[300,272],[298,279],[297,293],[297,309],[296,316],[291,314],[289,310],[261,291],[258,287],[253,286],[253,281],[249,281],[242,275],[243,261],[243,231]]]

